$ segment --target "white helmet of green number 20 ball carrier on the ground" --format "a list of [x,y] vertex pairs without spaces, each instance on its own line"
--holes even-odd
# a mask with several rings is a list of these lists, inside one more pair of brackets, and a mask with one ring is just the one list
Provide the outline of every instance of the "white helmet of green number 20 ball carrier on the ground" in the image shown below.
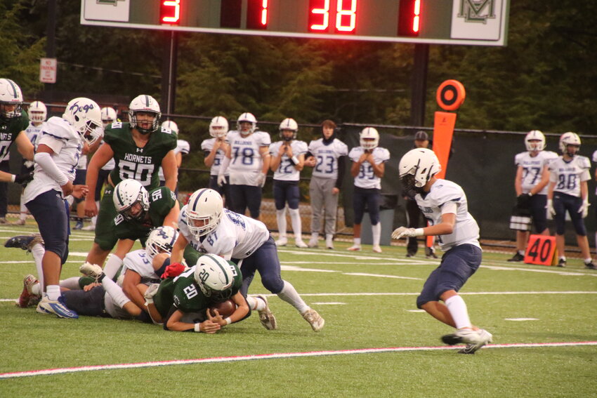
[[212,301],[228,300],[238,268],[215,254],[205,254],[197,259],[195,281],[205,297]]

